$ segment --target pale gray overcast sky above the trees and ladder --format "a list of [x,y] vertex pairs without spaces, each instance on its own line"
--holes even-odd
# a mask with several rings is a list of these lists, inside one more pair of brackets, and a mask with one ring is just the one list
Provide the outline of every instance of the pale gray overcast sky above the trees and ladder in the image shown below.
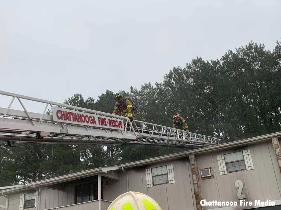
[[196,56],[219,59],[251,40],[273,50],[280,2],[0,1],[0,90],[97,99],[106,89],[162,82]]

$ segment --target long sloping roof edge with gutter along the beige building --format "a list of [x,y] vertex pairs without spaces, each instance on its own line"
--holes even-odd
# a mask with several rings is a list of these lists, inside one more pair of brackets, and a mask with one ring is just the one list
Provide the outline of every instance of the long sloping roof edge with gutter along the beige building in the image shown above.
[[[2,193],[7,194],[7,193],[26,190],[26,189],[30,189],[30,188],[34,188],[34,187],[47,186],[47,185],[62,183],[62,182],[71,181],[71,180],[75,180],[75,179],[79,179],[79,178],[94,176],[97,174],[106,174],[107,171],[114,171],[114,170],[119,170],[119,169],[125,170],[125,169],[129,169],[129,168],[133,168],[133,167],[150,165],[150,164],[155,164],[155,163],[159,163],[159,162],[163,162],[163,161],[176,160],[176,159],[188,157],[191,154],[202,154],[202,153],[212,152],[212,151],[216,151],[216,150],[231,149],[231,148],[235,148],[237,146],[251,145],[251,144],[254,144],[254,143],[257,143],[260,141],[266,141],[266,140],[272,139],[274,137],[281,138],[281,132],[266,134],[263,136],[256,136],[256,137],[252,137],[252,138],[248,138],[248,139],[227,142],[227,143],[223,143],[223,144],[219,144],[219,145],[213,145],[213,146],[203,147],[203,148],[194,149],[194,150],[188,150],[188,151],[174,153],[174,154],[170,154],[170,155],[164,155],[164,156],[160,156],[160,157],[153,157],[153,158],[140,160],[140,161],[136,161],[136,162],[121,164],[119,166],[100,167],[100,168],[90,169],[90,170],[86,170],[86,171],[80,171],[80,172],[73,173],[73,174],[67,174],[64,176],[58,176],[58,177],[54,177],[54,178],[49,178],[49,179],[45,179],[45,180],[41,180],[41,181],[28,183],[26,185],[19,185],[18,187],[15,187],[15,188],[5,189],[5,187],[4,188],[2,187],[3,190],[1,190],[1,188],[0,188],[0,195]],[[17,185],[15,185],[15,186],[17,186]]]

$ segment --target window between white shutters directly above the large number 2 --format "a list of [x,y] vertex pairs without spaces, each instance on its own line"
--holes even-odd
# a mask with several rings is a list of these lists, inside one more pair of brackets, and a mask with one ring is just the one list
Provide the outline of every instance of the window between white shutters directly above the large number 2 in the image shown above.
[[224,156],[225,156],[225,163],[228,173],[246,169],[242,152],[230,153]]

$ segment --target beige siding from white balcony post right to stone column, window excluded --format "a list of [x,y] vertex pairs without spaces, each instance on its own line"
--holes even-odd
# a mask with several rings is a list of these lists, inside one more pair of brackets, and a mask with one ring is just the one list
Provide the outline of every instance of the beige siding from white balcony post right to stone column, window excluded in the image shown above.
[[[163,165],[173,164],[175,183],[155,185],[147,188],[146,186],[146,168],[155,168]],[[163,210],[186,209],[194,210],[193,189],[190,183],[189,165],[187,158],[175,160],[172,162],[163,162],[160,164],[138,167],[126,171],[128,175],[129,191],[142,192],[153,199],[163,208]],[[119,173],[119,181],[104,178],[108,180],[108,187],[105,187],[104,181],[104,199],[113,201],[116,197],[127,191],[127,175],[124,172]]]

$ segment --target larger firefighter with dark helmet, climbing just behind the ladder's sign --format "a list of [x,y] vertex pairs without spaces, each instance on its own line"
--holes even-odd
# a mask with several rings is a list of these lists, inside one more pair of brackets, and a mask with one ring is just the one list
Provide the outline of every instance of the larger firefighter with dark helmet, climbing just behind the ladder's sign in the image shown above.
[[[114,104],[113,113],[114,115],[118,115],[120,112],[121,116],[128,117],[130,121],[136,120],[135,110],[133,108],[133,103],[124,98],[121,93],[114,94],[114,100],[116,101]],[[126,120],[123,119],[124,125],[126,124]]]

